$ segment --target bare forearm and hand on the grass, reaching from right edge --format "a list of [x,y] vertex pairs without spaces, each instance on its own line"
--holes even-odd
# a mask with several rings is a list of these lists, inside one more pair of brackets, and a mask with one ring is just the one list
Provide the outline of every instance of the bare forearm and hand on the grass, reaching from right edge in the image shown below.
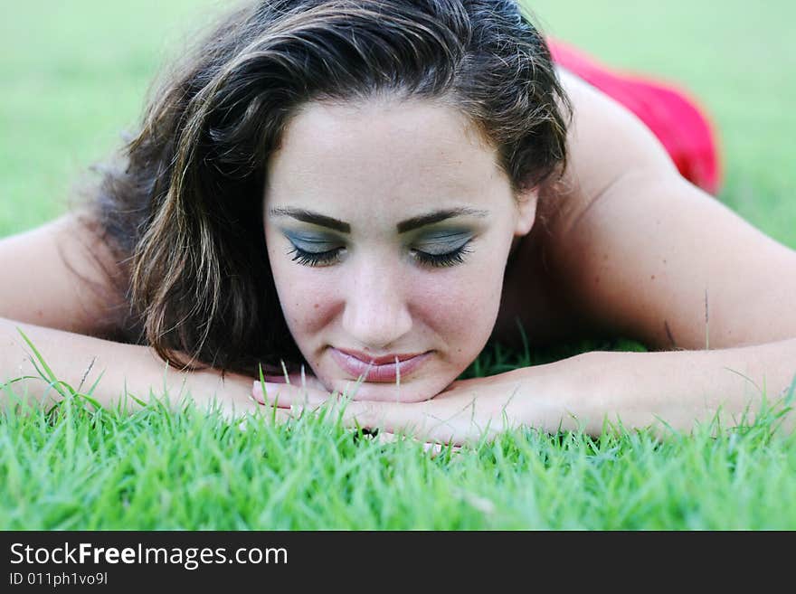
[[[670,429],[715,429],[716,421],[722,429],[751,424],[763,401],[778,414],[783,397],[796,388],[794,378],[796,340],[717,351],[593,352],[454,382],[429,401],[346,401],[343,420],[352,428],[457,445],[518,426],[595,436],[603,429],[649,428],[666,437]],[[294,414],[328,399],[315,389],[266,388],[267,396],[255,390],[261,401],[293,407]],[[785,414],[782,429],[790,433],[794,426],[796,415]]]

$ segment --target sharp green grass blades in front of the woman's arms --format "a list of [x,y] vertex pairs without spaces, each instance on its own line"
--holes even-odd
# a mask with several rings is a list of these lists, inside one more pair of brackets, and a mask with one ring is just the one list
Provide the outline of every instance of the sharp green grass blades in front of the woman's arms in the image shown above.
[[331,414],[230,424],[67,398],[3,416],[0,529],[793,529],[796,438],[779,419],[663,440],[526,429],[432,457]]

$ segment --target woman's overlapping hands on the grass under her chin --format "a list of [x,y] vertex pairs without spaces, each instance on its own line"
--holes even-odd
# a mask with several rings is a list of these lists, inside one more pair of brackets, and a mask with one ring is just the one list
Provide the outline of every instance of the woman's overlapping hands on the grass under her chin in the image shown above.
[[[535,372],[543,367],[518,369],[486,378],[453,382],[445,391],[422,402],[375,402],[342,400],[317,386],[266,382],[266,394],[255,382],[252,394],[263,404],[300,414],[327,401],[342,406],[347,427],[403,432],[437,444],[462,445],[519,425],[547,425],[555,421],[550,406],[540,409],[541,398],[528,397],[530,383],[546,377]],[[545,391],[540,392],[544,394]],[[332,398],[334,397],[334,400]],[[560,415],[559,415],[560,420]]]

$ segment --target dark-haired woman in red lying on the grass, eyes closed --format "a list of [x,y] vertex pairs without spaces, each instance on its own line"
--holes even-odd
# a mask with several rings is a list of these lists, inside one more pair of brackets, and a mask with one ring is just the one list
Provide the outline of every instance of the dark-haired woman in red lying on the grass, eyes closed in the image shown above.
[[[583,78],[508,0],[230,14],[83,212],[0,243],[0,372],[32,374],[19,327],[72,385],[105,370],[103,402],[184,390],[285,417],[342,392],[347,423],[455,443],[517,424],[691,429],[756,410],[755,382],[781,396],[796,253],[697,187],[715,188],[715,152],[670,146],[680,118],[656,137],[554,49]],[[655,352],[455,381],[517,322],[532,344]],[[314,379],[261,391],[259,365],[282,360]]]

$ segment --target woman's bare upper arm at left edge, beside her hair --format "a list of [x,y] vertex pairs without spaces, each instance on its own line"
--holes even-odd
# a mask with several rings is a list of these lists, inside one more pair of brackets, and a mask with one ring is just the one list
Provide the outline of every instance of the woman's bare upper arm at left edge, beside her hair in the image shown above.
[[0,239],[0,317],[83,335],[115,335],[118,267],[87,214],[70,212]]

